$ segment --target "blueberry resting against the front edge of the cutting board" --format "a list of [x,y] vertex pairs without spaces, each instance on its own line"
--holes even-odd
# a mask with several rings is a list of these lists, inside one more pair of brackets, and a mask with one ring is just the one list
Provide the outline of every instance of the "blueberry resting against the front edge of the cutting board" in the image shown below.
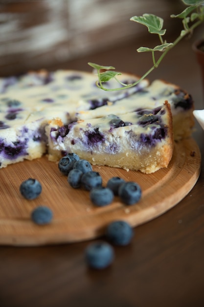
[[111,243],[125,246],[131,242],[133,229],[125,221],[114,221],[108,225],[106,236]]

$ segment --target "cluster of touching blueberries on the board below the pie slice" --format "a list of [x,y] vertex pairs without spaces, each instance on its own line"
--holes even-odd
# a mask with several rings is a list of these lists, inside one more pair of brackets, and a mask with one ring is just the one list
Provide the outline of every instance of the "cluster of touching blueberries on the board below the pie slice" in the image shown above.
[[90,191],[91,201],[96,206],[111,204],[116,195],[126,205],[136,204],[141,198],[141,188],[133,181],[113,177],[106,187],[102,186],[100,174],[92,170],[89,161],[80,159],[76,153],[68,153],[62,157],[58,167],[62,174],[68,176],[71,187],[82,187]]

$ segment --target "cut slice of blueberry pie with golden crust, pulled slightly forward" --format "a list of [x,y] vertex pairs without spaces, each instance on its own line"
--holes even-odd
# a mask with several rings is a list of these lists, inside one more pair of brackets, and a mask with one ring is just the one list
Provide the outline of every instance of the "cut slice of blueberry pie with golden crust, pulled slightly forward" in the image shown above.
[[167,167],[173,152],[170,104],[131,113],[108,114],[63,126],[55,120],[46,127],[50,155],[77,153],[91,164],[132,169],[149,174]]

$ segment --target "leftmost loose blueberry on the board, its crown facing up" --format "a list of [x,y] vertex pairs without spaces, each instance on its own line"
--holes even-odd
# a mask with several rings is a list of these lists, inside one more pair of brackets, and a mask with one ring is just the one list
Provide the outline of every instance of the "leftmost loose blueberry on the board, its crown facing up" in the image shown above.
[[29,178],[20,185],[20,192],[24,198],[33,200],[41,194],[42,185],[38,180]]

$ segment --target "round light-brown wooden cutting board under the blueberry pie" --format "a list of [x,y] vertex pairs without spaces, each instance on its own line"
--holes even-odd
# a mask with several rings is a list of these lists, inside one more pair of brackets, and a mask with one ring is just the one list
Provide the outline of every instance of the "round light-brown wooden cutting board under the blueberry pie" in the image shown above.
[[[200,150],[192,138],[176,143],[168,168],[153,174],[94,166],[104,185],[111,177],[119,176],[138,182],[142,189],[142,198],[136,205],[124,205],[115,197],[111,205],[95,207],[89,192],[71,188],[58,165],[46,157],[9,165],[0,169],[0,244],[76,242],[102,235],[113,220],[123,219],[134,227],[148,222],[189,193],[199,177],[200,166]],[[19,192],[20,184],[28,178],[38,179],[43,187],[42,194],[32,201],[25,200]],[[38,226],[31,221],[30,213],[38,205],[53,210],[51,224]]]

